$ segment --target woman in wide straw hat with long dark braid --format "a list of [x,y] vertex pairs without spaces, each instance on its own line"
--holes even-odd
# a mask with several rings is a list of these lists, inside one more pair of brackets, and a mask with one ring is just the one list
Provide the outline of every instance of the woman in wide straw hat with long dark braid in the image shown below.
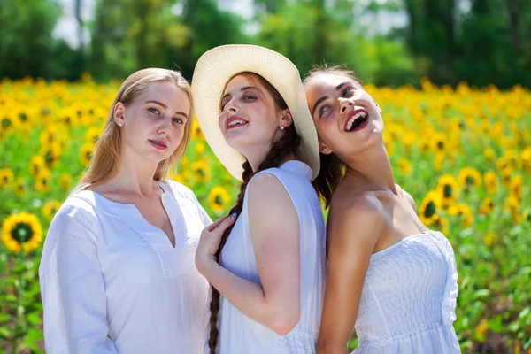
[[206,350],[312,353],[325,227],[311,184],[317,134],[296,66],[266,48],[221,46],[199,58],[192,90],[207,142],[242,181],[231,216],[205,229],[197,248],[212,284]]

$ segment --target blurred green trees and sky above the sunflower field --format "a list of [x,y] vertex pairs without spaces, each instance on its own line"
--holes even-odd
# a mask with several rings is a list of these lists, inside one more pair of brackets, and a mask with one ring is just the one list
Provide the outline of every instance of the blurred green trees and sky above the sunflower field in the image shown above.
[[3,0],[0,77],[97,81],[180,67],[257,43],[306,73],[348,64],[364,81],[531,85],[527,0]]

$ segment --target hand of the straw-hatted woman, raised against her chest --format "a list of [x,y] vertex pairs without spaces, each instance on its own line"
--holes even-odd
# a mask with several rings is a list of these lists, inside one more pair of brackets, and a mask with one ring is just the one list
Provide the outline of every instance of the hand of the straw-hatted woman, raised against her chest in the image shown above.
[[211,226],[205,227],[197,244],[196,267],[199,273],[204,274],[205,268],[216,261],[216,252],[219,249],[221,236],[235,223],[236,214],[217,219]]

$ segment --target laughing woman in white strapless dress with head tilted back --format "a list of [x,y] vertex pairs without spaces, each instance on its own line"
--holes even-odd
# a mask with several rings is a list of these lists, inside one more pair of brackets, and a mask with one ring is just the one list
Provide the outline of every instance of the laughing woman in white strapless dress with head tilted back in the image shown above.
[[318,353],[457,353],[458,274],[450,242],[417,217],[393,180],[381,110],[352,73],[304,81],[319,135],[315,181],[330,205],[327,289]]

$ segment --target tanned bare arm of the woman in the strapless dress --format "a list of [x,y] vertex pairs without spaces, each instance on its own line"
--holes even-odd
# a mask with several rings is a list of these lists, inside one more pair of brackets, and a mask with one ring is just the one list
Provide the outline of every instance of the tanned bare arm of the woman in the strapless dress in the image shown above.
[[319,332],[319,354],[345,354],[374,246],[384,226],[376,198],[361,197],[330,211],[325,304]]

